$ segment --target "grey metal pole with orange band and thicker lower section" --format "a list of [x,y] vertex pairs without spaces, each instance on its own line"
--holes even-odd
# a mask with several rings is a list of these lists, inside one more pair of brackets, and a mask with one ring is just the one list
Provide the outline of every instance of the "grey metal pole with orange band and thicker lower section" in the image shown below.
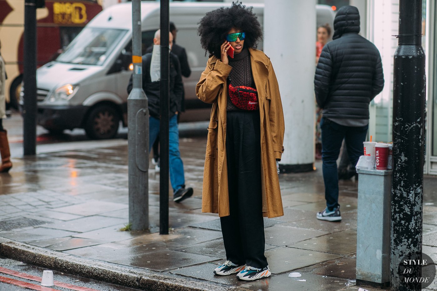
[[[133,89],[128,97],[129,223],[149,228],[149,108],[142,90],[141,0],[132,0]],[[148,73],[148,72],[145,72]]]

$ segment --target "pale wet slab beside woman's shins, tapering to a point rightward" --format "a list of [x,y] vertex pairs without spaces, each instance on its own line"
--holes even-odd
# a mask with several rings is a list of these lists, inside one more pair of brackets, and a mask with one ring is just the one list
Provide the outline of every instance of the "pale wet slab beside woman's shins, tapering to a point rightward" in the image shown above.
[[298,241],[316,236],[326,235],[328,232],[312,229],[301,229],[283,225],[274,225],[264,229],[266,243],[275,246],[288,246]]

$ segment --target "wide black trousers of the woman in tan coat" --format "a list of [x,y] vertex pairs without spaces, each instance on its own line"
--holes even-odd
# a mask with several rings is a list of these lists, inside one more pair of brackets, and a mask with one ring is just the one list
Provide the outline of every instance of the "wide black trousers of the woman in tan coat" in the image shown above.
[[230,215],[220,218],[226,258],[264,268],[260,113],[228,111],[226,123]]

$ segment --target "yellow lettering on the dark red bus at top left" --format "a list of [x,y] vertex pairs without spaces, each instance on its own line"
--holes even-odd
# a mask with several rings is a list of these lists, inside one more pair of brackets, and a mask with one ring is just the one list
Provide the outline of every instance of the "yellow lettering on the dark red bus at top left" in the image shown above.
[[53,22],[60,24],[81,24],[87,21],[87,7],[78,2],[53,3]]

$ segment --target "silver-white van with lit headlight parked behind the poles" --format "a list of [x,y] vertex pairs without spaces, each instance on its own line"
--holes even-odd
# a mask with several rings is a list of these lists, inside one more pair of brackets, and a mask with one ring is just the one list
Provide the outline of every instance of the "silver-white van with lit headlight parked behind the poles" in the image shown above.
[[[181,114],[181,121],[209,117],[210,105],[195,95],[195,85],[208,57],[200,46],[197,23],[206,12],[229,5],[170,3],[170,21],[178,29],[176,41],[186,49],[192,72],[183,80],[187,111]],[[262,24],[264,4],[250,5]],[[325,6],[317,5],[318,24],[333,23],[334,14],[326,14]],[[153,35],[160,25],[160,3],[142,2],[141,14],[145,50],[152,45]],[[37,70],[38,125],[50,132],[84,128],[92,139],[117,135],[120,121],[127,125],[126,87],[132,74],[131,48],[131,3],[111,6],[94,17],[55,61]],[[262,48],[260,43],[258,49]]]

